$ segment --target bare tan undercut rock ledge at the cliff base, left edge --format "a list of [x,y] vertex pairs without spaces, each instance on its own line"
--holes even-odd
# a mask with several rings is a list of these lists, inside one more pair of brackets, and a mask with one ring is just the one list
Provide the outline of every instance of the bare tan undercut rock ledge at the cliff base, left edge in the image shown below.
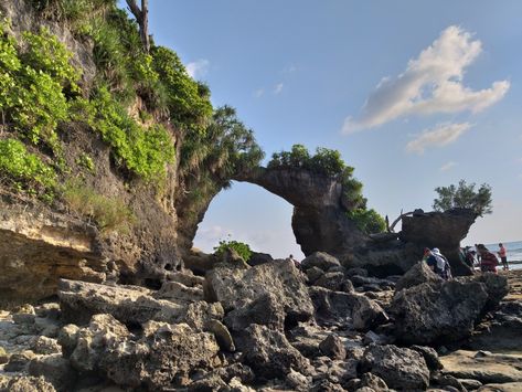
[[0,303],[51,296],[61,276],[89,282],[106,276],[95,227],[1,200],[0,269]]

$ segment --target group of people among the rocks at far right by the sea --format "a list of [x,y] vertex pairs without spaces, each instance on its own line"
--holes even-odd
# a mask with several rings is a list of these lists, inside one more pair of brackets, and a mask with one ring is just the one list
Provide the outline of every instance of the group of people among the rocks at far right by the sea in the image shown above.
[[[468,246],[460,251],[460,259],[469,267],[475,268],[475,266],[480,266],[481,272],[497,273],[497,266],[499,265],[497,255],[490,252],[483,244],[475,245],[475,248]],[[502,262],[503,269],[509,271],[507,252],[502,243],[499,244],[499,252],[497,252],[497,254]],[[423,259],[432,271],[443,279],[447,280],[451,278],[451,267],[449,262],[437,247],[434,247],[433,250],[426,247],[424,250]]]

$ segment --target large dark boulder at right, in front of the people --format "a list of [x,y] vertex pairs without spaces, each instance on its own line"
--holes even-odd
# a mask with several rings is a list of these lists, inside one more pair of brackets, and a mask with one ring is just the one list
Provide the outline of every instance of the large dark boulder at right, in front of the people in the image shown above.
[[487,303],[482,283],[434,282],[395,293],[390,311],[400,341],[430,345],[469,336]]

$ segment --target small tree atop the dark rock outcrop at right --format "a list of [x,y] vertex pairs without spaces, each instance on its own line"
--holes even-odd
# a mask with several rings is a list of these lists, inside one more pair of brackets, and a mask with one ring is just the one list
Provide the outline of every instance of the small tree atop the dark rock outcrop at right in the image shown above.
[[458,187],[451,184],[449,187],[438,187],[435,191],[438,198],[434,200],[435,211],[447,211],[454,208],[471,209],[479,216],[493,212],[491,187],[482,183],[476,191],[473,183],[466,183],[460,180]]

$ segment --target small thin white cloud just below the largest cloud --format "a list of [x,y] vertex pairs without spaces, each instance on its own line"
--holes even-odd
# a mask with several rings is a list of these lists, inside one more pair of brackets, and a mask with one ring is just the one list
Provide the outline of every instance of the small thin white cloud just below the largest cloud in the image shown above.
[[439,124],[435,128],[425,129],[418,134],[406,145],[406,150],[422,155],[426,148],[447,146],[456,141],[470,127],[469,123]]

